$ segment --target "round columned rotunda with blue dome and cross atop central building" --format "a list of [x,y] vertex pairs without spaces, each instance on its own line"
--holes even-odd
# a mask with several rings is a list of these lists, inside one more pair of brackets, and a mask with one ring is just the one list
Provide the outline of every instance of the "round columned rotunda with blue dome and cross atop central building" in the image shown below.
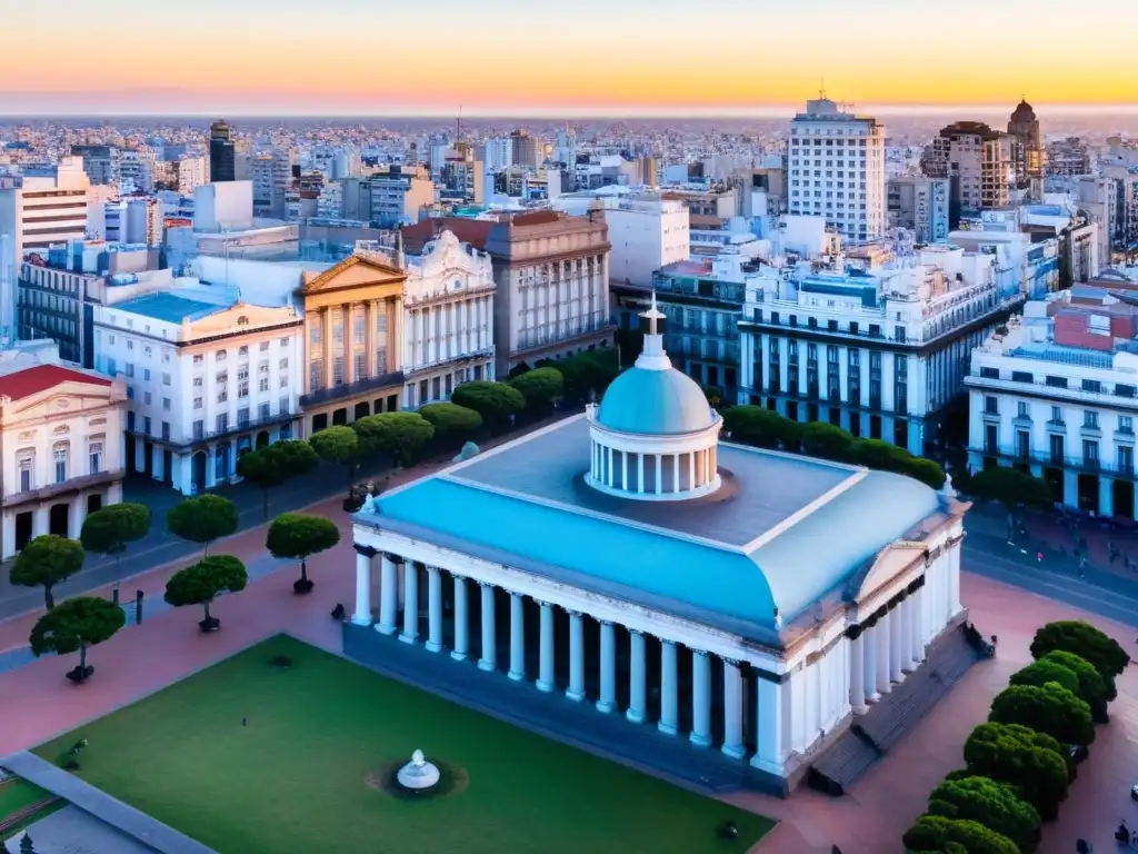
[[601,492],[641,501],[701,498],[721,483],[723,418],[699,384],[671,366],[655,294],[641,317],[644,348],[636,364],[586,410],[592,463],[585,479]]

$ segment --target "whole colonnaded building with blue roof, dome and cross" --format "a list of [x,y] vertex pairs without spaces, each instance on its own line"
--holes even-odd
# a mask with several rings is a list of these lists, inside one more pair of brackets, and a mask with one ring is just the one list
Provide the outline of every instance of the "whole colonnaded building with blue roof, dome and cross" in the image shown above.
[[654,297],[642,317],[643,352],[599,405],[356,514],[345,652],[638,764],[785,794],[963,619],[967,504],[721,441]]

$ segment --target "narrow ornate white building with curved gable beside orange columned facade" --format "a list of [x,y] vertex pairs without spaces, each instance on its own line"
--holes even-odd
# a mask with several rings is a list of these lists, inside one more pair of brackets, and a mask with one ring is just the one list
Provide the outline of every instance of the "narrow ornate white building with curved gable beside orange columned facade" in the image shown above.
[[494,379],[494,265],[442,232],[403,258],[403,405],[451,399],[461,383]]

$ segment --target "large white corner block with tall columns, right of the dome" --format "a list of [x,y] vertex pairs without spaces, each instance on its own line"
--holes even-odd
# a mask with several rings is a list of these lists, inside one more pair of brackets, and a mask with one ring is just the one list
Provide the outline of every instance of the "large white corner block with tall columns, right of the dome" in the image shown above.
[[968,354],[1021,291],[1000,289],[991,257],[954,247],[835,266],[748,282],[739,402],[924,454]]

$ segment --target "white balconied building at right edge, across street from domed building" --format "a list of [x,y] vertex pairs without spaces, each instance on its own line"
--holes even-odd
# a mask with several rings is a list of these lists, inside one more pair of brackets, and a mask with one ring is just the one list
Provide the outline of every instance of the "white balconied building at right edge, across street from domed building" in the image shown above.
[[[1049,314],[1066,291],[1030,302],[1006,334],[972,353],[968,465],[1016,466],[1045,479],[1056,503],[1135,519],[1138,352],[1056,344]],[[1107,313],[1087,334],[1111,335]]]

